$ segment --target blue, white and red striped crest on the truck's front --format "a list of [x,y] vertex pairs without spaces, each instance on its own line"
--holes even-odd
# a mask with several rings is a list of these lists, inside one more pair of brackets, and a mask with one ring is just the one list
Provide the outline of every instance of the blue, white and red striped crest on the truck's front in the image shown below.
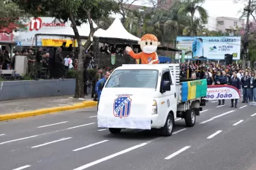
[[129,96],[118,96],[114,100],[113,114],[115,117],[128,117],[131,112],[132,99]]

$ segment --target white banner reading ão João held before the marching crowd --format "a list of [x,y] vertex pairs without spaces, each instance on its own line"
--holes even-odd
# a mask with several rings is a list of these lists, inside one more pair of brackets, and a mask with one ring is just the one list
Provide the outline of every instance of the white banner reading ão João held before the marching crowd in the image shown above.
[[207,100],[240,98],[240,92],[231,85],[208,85]]

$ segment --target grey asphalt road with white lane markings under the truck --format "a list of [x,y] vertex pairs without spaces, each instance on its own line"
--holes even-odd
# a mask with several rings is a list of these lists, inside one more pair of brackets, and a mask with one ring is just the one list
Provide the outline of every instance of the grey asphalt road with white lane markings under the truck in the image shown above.
[[1,170],[255,170],[256,107],[209,101],[173,136],[97,128],[96,108],[0,123]]

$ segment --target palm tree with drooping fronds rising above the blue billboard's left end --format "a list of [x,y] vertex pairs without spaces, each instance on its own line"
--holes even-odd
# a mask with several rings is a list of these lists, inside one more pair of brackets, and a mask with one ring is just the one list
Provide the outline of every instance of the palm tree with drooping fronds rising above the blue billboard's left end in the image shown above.
[[[184,0],[181,2],[181,6],[178,9],[179,14],[189,14],[190,15],[190,31],[189,35],[193,36],[197,34],[195,23],[198,24],[200,21],[202,23],[207,22],[208,14],[206,9],[201,7],[201,5],[205,2],[205,0]],[[195,18],[195,12],[198,12],[200,15],[200,19]]]

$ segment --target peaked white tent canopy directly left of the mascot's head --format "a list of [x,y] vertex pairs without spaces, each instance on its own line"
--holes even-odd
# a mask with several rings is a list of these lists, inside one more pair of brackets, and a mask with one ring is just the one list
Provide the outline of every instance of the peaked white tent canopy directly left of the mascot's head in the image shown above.
[[123,24],[121,23],[121,20],[118,18],[114,20],[112,25],[105,31],[103,35],[100,35],[98,37],[140,41],[140,38],[138,38],[137,36],[129,34],[129,32],[124,28]]

